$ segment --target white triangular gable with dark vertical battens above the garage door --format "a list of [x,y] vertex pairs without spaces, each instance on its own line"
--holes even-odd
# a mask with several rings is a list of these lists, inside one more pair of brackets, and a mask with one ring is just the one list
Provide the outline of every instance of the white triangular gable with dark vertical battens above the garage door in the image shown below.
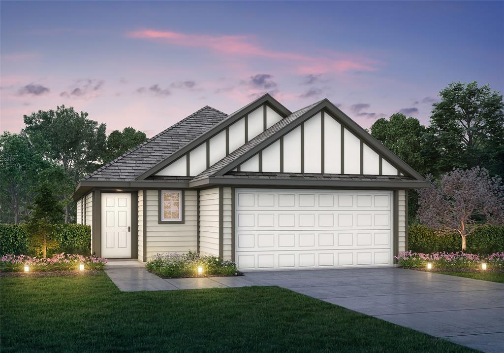
[[293,127],[235,171],[402,175],[398,166],[325,110]]

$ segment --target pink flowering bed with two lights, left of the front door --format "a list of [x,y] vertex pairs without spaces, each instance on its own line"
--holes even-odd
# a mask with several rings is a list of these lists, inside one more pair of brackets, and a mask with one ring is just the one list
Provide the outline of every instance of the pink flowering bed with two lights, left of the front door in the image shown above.
[[24,270],[24,265],[28,265],[30,271],[77,270],[79,264],[84,264],[85,269],[101,270],[106,262],[107,260],[95,256],[84,257],[65,253],[47,259],[6,254],[0,258],[0,271],[21,272]]

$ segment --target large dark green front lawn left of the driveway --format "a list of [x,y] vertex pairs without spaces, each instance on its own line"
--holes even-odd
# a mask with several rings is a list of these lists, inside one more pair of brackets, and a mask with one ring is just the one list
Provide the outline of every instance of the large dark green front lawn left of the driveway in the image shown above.
[[278,287],[123,293],[105,274],[0,281],[3,353],[472,351]]

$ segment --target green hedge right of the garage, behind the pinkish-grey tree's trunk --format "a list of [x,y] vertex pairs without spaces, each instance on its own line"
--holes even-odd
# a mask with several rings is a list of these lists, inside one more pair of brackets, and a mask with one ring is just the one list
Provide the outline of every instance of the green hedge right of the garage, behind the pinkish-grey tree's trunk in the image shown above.
[[[420,224],[409,226],[408,248],[414,253],[435,253],[437,251],[460,251],[460,234],[437,236],[432,229]],[[489,255],[504,251],[504,226],[487,226],[476,229],[467,236],[466,253]]]

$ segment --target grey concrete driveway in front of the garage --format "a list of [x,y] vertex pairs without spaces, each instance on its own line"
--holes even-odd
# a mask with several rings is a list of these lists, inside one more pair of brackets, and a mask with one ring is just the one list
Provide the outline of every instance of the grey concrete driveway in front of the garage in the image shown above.
[[504,283],[399,268],[245,276],[485,352],[504,352]]

